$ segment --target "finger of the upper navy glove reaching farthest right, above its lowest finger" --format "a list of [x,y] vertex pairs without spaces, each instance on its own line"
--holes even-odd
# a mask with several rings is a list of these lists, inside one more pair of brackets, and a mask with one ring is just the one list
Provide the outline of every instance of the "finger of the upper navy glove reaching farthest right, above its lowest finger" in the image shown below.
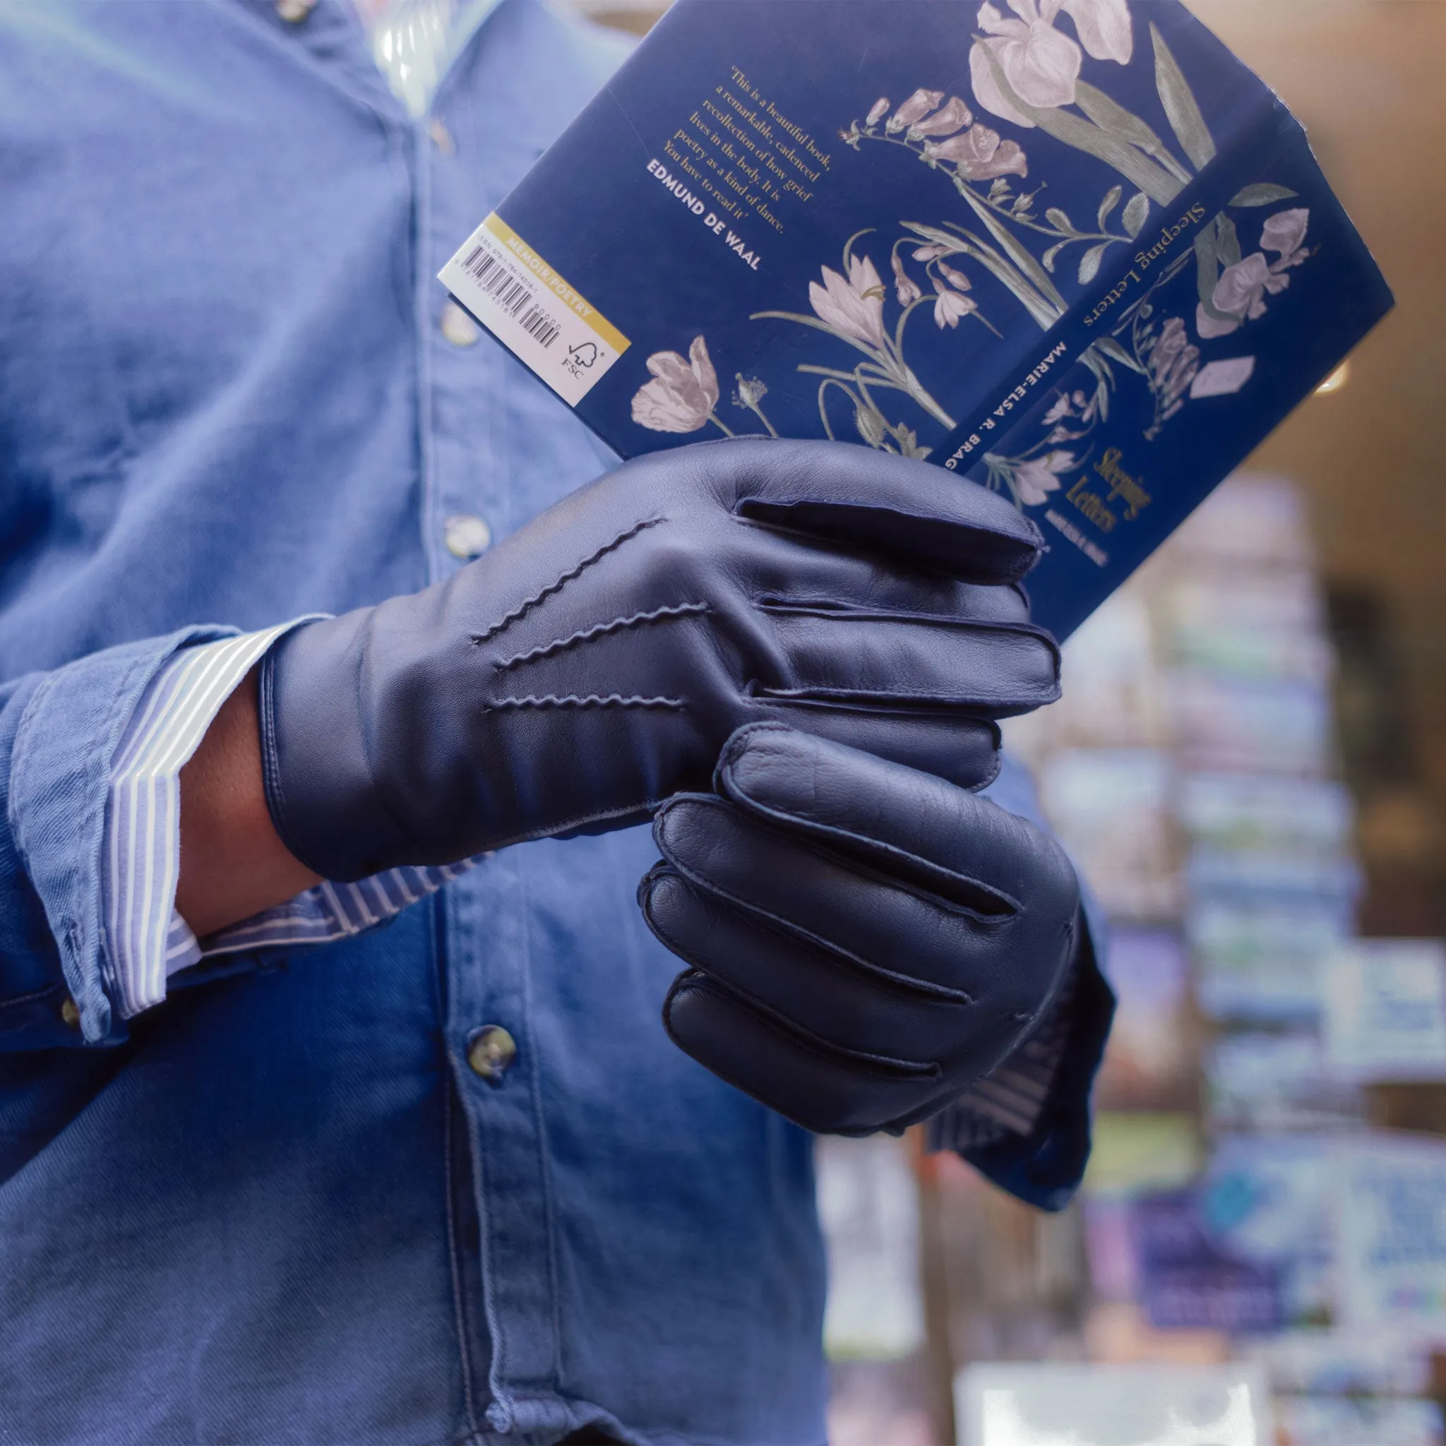
[[1028,713],[1060,696],[1060,652],[1027,623],[899,617],[775,603],[766,609],[790,677],[752,681],[779,703],[863,703]]

